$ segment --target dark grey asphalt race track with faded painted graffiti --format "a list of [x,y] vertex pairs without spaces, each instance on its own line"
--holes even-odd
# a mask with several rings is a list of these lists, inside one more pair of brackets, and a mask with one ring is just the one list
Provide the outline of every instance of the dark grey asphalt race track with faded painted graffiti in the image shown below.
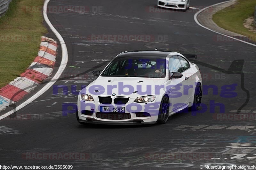
[[[223,0],[193,0],[191,6],[219,2]],[[51,0],[48,6],[86,6],[91,11],[48,12],[68,48],[67,67],[55,83],[68,86],[68,95],[51,87],[1,120],[2,164],[72,165],[81,170],[256,165],[255,47],[218,39],[218,34],[195,23],[198,10],[149,11],[156,8],[156,0]],[[93,35],[148,35],[151,39],[93,41]],[[57,40],[50,29],[47,36]],[[190,61],[198,64],[203,85],[214,87],[204,89],[201,113],[184,111],[164,125],[81,125],[76,121],[77,94],[71,85],[81,90],[96,78],[92,70],[104,68],[123,51],[154,48],[198,55]],[[58,50],[55,71],[61,59]]]

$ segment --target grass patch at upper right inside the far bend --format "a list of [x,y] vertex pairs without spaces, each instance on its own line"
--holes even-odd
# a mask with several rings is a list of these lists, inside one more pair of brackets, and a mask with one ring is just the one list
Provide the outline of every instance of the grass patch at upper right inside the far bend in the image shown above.
[[256,33],[244,27],[244,20],[254,16],[256,0],[238,0],[223,10],[216,12],[212,19],[220,27],[234,33],[245,35],[256,41]]

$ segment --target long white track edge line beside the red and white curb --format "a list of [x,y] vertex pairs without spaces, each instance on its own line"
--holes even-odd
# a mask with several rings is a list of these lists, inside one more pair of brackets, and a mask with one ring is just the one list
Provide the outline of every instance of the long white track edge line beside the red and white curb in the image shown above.
[[66,68],[66,65],[68,63],[68,50],[67,50],[67,46],[65,44],[64,39],[60,35],[60,33],[52,26],[52,23],[50,22],[50,20],[49,20],[49,18],[47,16],[47,5],[48,5],[49,1],[50,0],[45,0],[44,1],[43,15],[44,15],[45,22],[48,24],[48,26],[50,27],[52,32],[56,35],[56,37],[60,41],[61,51],[62,51],[60,67],[59,67],[58,71],[56,72],[56,74],[54,75],[54,77],[41,90],[39,90],[36,94],[34,94],[28,100],[24,101],[19,106],[17,106],[16,109],[13,109],[13,110],[5,113],[4,115],[0,116],[0,120],[4,119],[5,117],[7,117],[7,116],[9,116],[11,114],[13,114],[17,110],[20,110],[21,108],[27,106],[30,102],[34,101],[36,98],[38,98],[39,96],[44,94],[44,92],[46,92],[50,87],[52,87],[52,85],[60,78],[61,73]]

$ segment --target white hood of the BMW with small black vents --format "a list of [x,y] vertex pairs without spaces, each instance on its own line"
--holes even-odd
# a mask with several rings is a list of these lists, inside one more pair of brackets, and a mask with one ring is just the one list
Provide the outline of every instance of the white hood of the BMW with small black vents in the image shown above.
[[[156,88],[166,82],[166,78],[134,78],[134,77],[98,77],[80,92],[98,96],[127,96],[137,98],[140,96],[159,94]],[[137,91],[137,92],[136,92]],[[112,95],[115,93],[115,95]]]

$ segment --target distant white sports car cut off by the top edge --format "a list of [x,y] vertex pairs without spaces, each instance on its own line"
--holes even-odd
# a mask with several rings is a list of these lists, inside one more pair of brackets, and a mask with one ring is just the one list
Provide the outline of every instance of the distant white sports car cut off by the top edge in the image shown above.
[[190,0],[157,0],[157,6],[187,11]]

